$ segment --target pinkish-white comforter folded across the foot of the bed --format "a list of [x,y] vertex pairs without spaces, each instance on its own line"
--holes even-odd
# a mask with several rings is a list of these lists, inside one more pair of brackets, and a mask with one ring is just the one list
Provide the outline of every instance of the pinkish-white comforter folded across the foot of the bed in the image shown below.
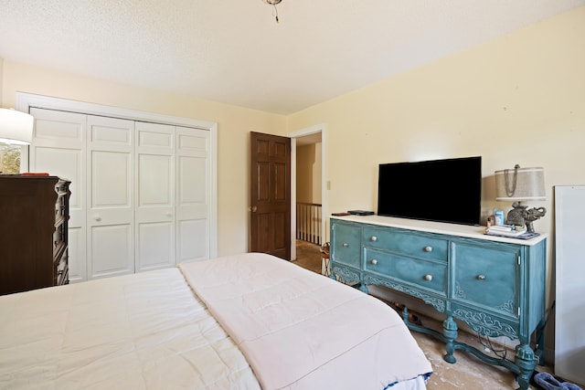
[[264,389],[383,389],[431,373],[386,304],[280,258],[182,264]]

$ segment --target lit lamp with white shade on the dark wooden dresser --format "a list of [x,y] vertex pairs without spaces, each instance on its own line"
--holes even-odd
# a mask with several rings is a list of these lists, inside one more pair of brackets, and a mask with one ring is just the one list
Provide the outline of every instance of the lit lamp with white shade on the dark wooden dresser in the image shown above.
[[25,112],[0,109],[0,174],[20,172],[20,146],[32,141],[34,122]]

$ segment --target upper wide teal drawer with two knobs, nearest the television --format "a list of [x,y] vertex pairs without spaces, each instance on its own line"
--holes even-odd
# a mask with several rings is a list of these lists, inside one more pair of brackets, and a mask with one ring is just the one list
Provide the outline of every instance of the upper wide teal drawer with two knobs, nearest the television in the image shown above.
[[364,227],[364,246],[386,249],[416,258],[447,261],[449,241],[416,232],[400,232],[393,229]]

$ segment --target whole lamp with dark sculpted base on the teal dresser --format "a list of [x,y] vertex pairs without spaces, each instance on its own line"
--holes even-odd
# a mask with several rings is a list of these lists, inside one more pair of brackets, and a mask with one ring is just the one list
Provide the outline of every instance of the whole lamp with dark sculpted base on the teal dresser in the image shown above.
[[546,200],[544,169],[520,168],[516,164],[514,169],[495,171],[495,199],[512,201],[514,207],[505,220],[508,225],[523,226],[526,224],[529,232],[534,232],[532,223],[539,217],[545,216],[545,207],[527,209],[520,205],[522,201]]

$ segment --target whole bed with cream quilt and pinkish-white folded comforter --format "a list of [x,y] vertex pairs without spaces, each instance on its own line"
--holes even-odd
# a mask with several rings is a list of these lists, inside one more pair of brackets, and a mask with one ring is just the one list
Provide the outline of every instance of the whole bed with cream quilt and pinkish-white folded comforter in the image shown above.
[[380,300],[270,255],[0,297],[0,388],[424,389]]

